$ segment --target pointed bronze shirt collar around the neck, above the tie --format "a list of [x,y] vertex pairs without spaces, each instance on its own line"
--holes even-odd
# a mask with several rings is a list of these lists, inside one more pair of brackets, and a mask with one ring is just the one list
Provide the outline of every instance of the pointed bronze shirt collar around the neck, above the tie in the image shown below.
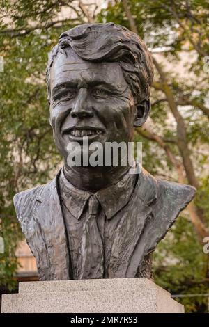
[[112,184],[96,193],[91,193],[73,186],[65,177],[63,168],[59,177],[61,200],[72,216],[79,219],[82,215],[88,198],[93,194],[100,202],[107,219],[112,218],[118,211],[127,205],[136,184],[137,175],[129,172],[116,184]]

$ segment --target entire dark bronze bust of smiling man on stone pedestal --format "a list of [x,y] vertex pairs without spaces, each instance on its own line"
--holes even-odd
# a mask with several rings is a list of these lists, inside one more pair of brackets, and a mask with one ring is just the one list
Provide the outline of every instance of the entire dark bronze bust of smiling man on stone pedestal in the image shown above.
[[[40,280],[151,278],[150,254],[194,197],[192,186],[130,166],[70,167],[68,145],[133,140],[150,111],[153,64],[123,26],[84,24],[61,35],[47,66],[49,122],[64,165],[17,193],[17,218]],[[83,149],[84,150],[84,149]]]

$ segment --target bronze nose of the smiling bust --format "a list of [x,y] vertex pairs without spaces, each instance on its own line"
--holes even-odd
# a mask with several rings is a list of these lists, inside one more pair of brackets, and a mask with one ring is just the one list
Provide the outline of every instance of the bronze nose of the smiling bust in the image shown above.
[[70,115],[72,118],[93,117],[93,110],[87,101],[88,90],[80,88]]

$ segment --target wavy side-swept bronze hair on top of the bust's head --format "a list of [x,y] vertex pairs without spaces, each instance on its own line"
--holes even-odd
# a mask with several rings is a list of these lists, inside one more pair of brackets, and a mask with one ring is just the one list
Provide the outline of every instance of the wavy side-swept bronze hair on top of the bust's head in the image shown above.
[[130,86],[135,104],[148,100],[153,82],[153,63],[145,43],[139,36],[114,23],[83,24],[61,34],[49,54],[47,65],[48,99],[49,75],[54,58],[59,53],[68,56],[68,48],[77,56],[93,62],[118,62],[125,81]]

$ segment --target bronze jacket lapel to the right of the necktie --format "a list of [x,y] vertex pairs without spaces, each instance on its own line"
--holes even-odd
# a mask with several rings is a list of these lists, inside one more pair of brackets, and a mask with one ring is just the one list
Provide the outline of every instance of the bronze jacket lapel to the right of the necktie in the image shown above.
[[[144,234],[146,225],[153,218],[153,210],[151,204],[157,197],[157,181],[154,177],[142,170],[139,174],[137,186],[125,208],[123,217],[116,229],[114,243],[111,248],[111,257],[109,261],[109,278],[125,278],[132,271],[132,260],[135,261],[134,269],[137,273],[141,257],[133,259],[132,254],[137,247],[141,235]],[[135,268],[136,266],[136,268]]]

